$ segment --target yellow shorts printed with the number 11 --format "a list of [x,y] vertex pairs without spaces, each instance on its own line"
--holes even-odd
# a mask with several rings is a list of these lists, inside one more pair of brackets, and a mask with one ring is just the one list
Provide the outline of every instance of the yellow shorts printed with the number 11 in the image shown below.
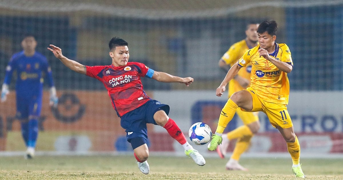
[[248,87],[246,91],[248,91],[252,96],[252,110],[241,110],[246,112],[264,112],[269,118],[269,122],[273,125],[274,128],[276,126],[280,126],[281,128],[286,129],[291,128],[293,126],[286,105],[264,101],[253,91],[251,87]]

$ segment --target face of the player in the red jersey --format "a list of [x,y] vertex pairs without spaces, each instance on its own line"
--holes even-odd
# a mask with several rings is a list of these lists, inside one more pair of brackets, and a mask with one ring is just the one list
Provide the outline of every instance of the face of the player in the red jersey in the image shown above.
[[127,46],[118,46],[109,52],[114,66],[124,66],[129,61],[129,48]]

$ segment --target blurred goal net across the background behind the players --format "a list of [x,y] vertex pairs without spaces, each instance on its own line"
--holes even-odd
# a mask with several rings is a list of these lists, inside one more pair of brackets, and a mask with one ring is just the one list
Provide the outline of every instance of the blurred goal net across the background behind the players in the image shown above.
[[[227,100],[213,97],[226,74],[218,61],[232,44],[246,37],[247,23],[268,19],[279,25],[276,43],[286,43],[292,52],[294,68],[288,74],[291,92],[296,97],[320,92],[331,93],[333,99],[340,95],[335,93],[343,90],[343,2],[336,0],[0,1],[0,81],[4,80],[13,53],[22,50],[23,35],[35,35],[36,50],[49,60],[60,98],[58,108],[51,109],[47,106],[48,91],[44,92],[37,151],[130,152],[131,146],[102,83],[66,68],[47,50],[49,44],[61,47],[66,57],[84,65],[108,65],[111,59],[107,44],[117,36],[128,41],[130,61],[142,62],[156,71],[193,77],[194,83],[187,88],[179,83],[142,79],[149,96],[171,106],[170,117],[187,136],[188,128],[196,121],[207,122],[215,130]],[[25,150],[20,142],[20,122],[15,118],[15,80],[14,74],[9,98],[0,103],[0,151]],[[319,103],[311,106],[312,110],[322,109],[323,101],[309,101]],[[291,99],[290,104],[295,105],[294,117],[299,119],[295,125],[301,127],[297,133],[324,134],[333,144],[326,150],[343,153],[343,143],[336,141],[343,130],[332,128],[342,125],[341,114],[327,109],[313,112],[316,128],[311,129],[304,116],[312,112],[297,110],[304,105],[296,106],[299,99]],[[325,119],[327,115],[334,119]],[[260,119],[266,127],[269,125],[262,113]],[[235,116],[230,123],[226,131],[241,121]],[[268,139],[270,133],[275,133],[271,129],[262,128],[260,137],[274,141]],[[163,128],[149,124],[148,131],[151,151],[176,152],[181,148]],[[260,141],[264,139],[256,140]],[[323,146],[327,144],[319,148]],[[205,147],[200,148],[205,151]],[[259,150],[287,151],[274,146],[270,149]]]

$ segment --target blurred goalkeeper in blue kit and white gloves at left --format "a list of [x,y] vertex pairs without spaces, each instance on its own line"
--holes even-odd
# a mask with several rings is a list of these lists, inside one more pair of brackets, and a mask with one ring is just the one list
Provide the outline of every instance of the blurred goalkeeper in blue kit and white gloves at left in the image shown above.
[[27,35],[22,43],[23,51],[15,53],[8,66],[1,90],[1,102],[6,101],[9,93],[12,73],[16,70],[16,118],[21,120],[21,132],[27,147],[25,158],[35,154],[38,137],[38,118],[42,110],[43,73],[47,75],[50,87],[50,106],[57,106],[58,98],[52,80],[51,68],[47,59],[36,52],[37,41],[34,36]]

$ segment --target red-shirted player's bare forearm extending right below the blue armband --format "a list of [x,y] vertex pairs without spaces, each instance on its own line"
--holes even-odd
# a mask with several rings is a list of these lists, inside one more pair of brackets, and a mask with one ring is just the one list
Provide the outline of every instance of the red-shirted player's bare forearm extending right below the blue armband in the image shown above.
[[159,82],[165,82],[165,83],[182,83],[186,84],[189,86],[192,84],[194,79],[192,77],[178,77],[178,76],[173,76],[165,72],[159,72],[155,71],[154,75],[152,76],[152,79],[159,81]]

